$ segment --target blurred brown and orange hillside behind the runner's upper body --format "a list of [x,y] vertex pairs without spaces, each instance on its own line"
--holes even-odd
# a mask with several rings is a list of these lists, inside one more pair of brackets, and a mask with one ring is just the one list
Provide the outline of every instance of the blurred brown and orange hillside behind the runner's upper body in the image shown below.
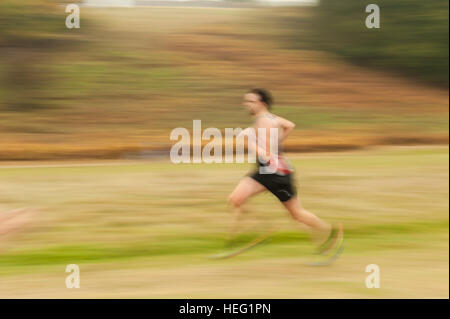
[[64,7],[21,3],[0,10],[2,160],[168,149],[193,119],[245,127],[255,86],[297,124],[291,151],[448,143],[448,89],[319,51],[314,8],[83,7],[69,30]]

